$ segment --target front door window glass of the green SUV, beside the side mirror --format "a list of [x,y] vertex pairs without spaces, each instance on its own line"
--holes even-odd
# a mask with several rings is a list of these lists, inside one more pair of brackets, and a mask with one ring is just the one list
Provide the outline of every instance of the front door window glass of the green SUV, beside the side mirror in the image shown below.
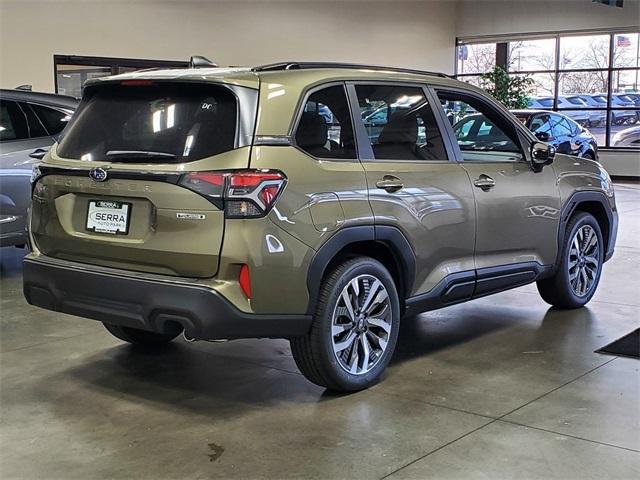
[[447,118],[453,125],[465,162],[519,161],[515,127],[479,99],[464,94],[439,92]]

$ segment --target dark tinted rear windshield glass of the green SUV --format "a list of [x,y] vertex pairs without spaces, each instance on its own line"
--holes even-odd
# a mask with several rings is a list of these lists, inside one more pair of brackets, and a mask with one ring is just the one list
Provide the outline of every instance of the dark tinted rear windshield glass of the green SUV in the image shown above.
[[103,85],[89,90],[58,153],[65,158],[180,163],[233,150],[237,105],[225,87]]

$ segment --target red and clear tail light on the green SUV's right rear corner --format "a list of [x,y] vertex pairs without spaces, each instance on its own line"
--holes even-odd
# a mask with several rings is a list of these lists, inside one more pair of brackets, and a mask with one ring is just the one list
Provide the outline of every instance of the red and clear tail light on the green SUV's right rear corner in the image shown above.
[[224,207],[227,218],[256,218],[269,212],[286,180],[273,170],[212,171],[188,173],[179,185]]

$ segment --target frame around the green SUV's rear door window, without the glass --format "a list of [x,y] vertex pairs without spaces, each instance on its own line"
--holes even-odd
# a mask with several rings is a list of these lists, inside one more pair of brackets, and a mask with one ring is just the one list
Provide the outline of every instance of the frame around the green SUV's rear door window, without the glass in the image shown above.
[[[443,119],[440,115],[440,108],[434,108],[434,97],[432,95],[430,86],[425,82],[411,82],[411,81],[402,81],[397,82],[393,80],[347,80],[347,92],[349,93],[349,103],[351,106],[351,117],[353,122],[356,124],[356,141],[358,145],[362,145],[358,149],[358,156],[361,162],[377,162],[377,163],[425,163],[425,164],[447,164],[447,163],[455,163],[455,149],[451,144],[451,139],[445,133],[444,129],[445,125],[443,125]],[[358,85],[381,85],[381,86],[391,86],[391,87],[409,87],[409,88],[420,88],[427,100],[429,107],[433,113],[433,116],[436,121],[436,126],[438,131],[440,132],[440,136],[442,137],[442,143],[444,145],[445,151],[447,153],[446,160],[418,160],[418,159],[392,159],[392,158],[375,158],[373,154],[373,147],[371,146],[371,141],[369,140],[369,135],[367,134],[366,128],[362,121],[362,115],[360,114],[360,104],[358,102],[358,95],[356,93],[356,86]],[[357,115],[356,115],[357,113]],[[446,119],[445,119],[446,122]]]

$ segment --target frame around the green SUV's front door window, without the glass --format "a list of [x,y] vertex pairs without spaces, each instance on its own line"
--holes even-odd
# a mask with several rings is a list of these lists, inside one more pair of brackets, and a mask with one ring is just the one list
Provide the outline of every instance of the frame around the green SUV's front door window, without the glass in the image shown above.
[[[444,113],[444,109],[442,108],[442,105],[440,103],[440,97],[438,96],[439,92],[444,92],[444,93],[452,93],[452,94],[460,94],[460,95],[464,95],[467,97],[471,97],[474,98],[484,104],[486,104],[491,110],[493,110],[493,112],[502,117],[504,119],[504,121],[506,123],[509,123],[510,125],[513,126],[514,129],[514,133],[516,134],[517,139],[511,139],[516,146],[520,147],[520,154],[522,155],[522,158],[520,160],[486,160],[486,161],[474,161],[474,162],[465,162],[463,156],[462,156],[462,150],[460,150],[460,146],[458,145],[458,140],[455,136],[455,132],[453,131],[453,125],[451,125],[449,123],[449,121],[447,121],[447,130],[449,132],[449,136],[452,139],[452,141],[454,142],[454,150],[456,153],[456,161],[458,163],[474,163],[474,164],[479,164],[479,163],[493,163],[493,164],[499,164],[499,163],[504,163],[504,164],[509,164],[509,165],[513,165],[515,163],[526,163],[528,166],[531,166],[531,158],[530,158],[530,148],[532,143],[536,142],[537,139],[535,139],[535,137],[533,137],[533,134],[531,133],[531,131],[526,128],[524,125],[522,125],[522,123],[520,121],[512,121],[508,115],[505,115],[504,112],[502,111],[502,109],[504,107],[502,107],[500,104],[497,103],[497,101],[491,99],[488,96],[479,94],[471,89],[466,89],[466,88],[461,88],[461,87],[452,87],[452,86],[435,86],[434,88],[434,93],[436,98],[438,99],[438,105],[439,105],[439,110],[442,111],[442,114],[445,115]],[[480,113],[480,112],[479,112]],[[526,139],[526,140],[525,140]],[[527,145],[528,144],[528,145]],[[527,148],[525,148],[527,147]]]

